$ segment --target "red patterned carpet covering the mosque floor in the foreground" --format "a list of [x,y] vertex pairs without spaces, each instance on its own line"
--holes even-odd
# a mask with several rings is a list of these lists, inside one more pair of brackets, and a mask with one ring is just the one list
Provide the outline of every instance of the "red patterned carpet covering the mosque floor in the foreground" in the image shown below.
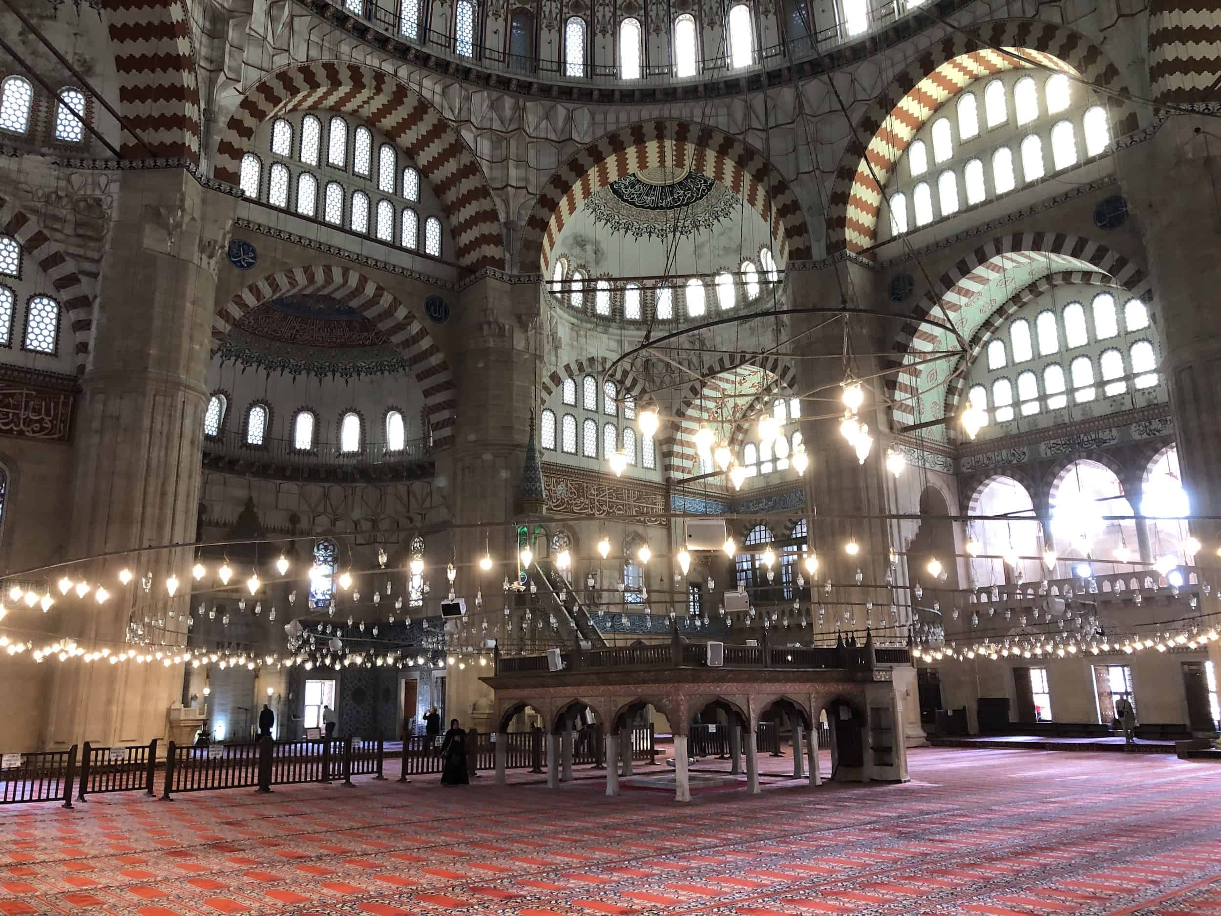
[[939,749],[911,771],[689,806],[490,776],[13,805],[0,915],[1221,915],[1221,767]]

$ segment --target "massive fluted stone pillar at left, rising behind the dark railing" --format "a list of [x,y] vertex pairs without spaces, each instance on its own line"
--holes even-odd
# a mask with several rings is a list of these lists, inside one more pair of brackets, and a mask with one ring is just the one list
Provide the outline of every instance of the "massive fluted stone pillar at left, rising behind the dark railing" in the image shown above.
[[[92,364],[74,421],[72,541],[63,557],[195,540],[205,388],[216,270],[232,198],[205,191],[186,171],[122,176],[110,250],[99,282]],[[104,583],[106,605],[60,602],[59,629],[82,646],[123,649],[128,622],[149,651],[172,657],[186,644],[190,550],[82,567]],[[118,570],[136,579],[121,586]],[[182,581],[171,600],[165,580]],[[139,585],[153,574],[148,594]],[[164,644],[164,645],[162,645]],[[57,667],[49,702],[50,747],[74,741],[143,743],[166,734],[182,666]]]

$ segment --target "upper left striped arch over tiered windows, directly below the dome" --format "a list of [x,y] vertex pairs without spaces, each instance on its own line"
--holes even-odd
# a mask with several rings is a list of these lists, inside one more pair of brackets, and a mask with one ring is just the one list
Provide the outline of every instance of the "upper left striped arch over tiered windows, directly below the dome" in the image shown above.
[[216,145],[214,176],[236,184],[259,125],[289,111],[357,115],[394,140],[429,181],[449,221],[464,267],[504,269],[501,220],[479,160],[414,89],[372,67],[315,61],[274,71],[247,90]]

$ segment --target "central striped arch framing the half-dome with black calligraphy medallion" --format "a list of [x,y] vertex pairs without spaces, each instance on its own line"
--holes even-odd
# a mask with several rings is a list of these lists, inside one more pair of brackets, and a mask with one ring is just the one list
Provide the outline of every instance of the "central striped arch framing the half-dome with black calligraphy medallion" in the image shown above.
[[551,177],[521,233],[526,266],[548,271],[564,224],[592,194],[617,178],[656,166],[691,170],[728,186],[764,221],[783,258],[812,258],[810,230],[797,195],[753,147],[714,127],[686,121],[645,121],[591,143]]

